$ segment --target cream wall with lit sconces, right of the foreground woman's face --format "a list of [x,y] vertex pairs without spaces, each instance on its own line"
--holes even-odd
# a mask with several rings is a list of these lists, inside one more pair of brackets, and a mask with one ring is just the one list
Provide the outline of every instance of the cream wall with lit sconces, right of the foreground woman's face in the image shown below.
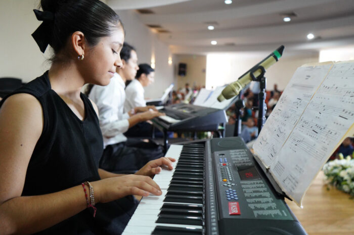
[[159,98],[173,82],[173,67],[168,64],[168,45],[157,39],[150,29],[139,21],[134,11],[116,11],[126,31],[125,41],[137,49],[138,63],[151,64],[155,59],[155,82],[145,87],[146,98]]

